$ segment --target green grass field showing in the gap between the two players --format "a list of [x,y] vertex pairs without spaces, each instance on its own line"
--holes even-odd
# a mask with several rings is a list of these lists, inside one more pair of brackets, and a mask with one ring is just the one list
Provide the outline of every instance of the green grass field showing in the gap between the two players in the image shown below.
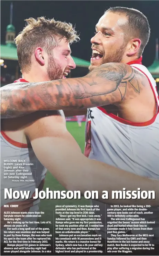
[[[67,129],[72,134],[74,139],[76,139],[77,143],[79,144],[82,152],[84,152],[85,148],[85,122],[82,122],[82,127],[79,128],[77,122],[67,122]],[[50,188],[50,190],[66,190],[64,189],[61,184],[52,176],[50,172],[47,173],[44,190],[46,188]],[[52,224],[49,224],[50,232],[53,234],[53,223],[55,218],[53,219],[53,211],[55,210],[56,205],[89,205],[90,201],[86,200],[84,197],[79,200],[74,199],[44,199],[40,202],[40,211],[44,211],[44,215],[41,216],[39,221],[51,221]],[[55,217],[55,214],[54,214]],[[56,217],[58,217],[56,215]],[[42,224],[44,227],[44,224]],[[47,227],[47,224],[46,224]]]

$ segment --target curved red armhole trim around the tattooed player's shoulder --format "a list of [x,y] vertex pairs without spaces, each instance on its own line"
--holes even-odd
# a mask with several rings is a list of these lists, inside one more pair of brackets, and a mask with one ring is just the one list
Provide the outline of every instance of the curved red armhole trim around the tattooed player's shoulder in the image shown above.
[[131,66],[132,66],[133,68],[138,69],[143,75],[146,76],[146,78],[147,78],[148,81],[149,81],[149,84],[150,84],[150,86],[151,86],[153,95],[155,96],[155,100],[156,100],[157,110],[156,110],[155,116],[153,116],[153,117],[151,118],[151,120],[149,120],[149,121],[147,121],[147,122],[141,122],[141,123],[138,123],[138,122],[137,122],[137,123],[136,123],[136,122],[131,122],[131,121],[125,120],[125,119],[123,119],[123,118],[121,118],[121,117],[119,117],[119,116],[116,116],[116,115],[112,114],[112,113],[107,113],[107,111],[106,111],[105,108],[103,108],[103,107],[97,107],[97,108],[98,108],[99,110],[101,110],[103,113],[105,113],[106,115],[110,116],[111,118],[117,120],[117,121],[120,122],[120,123],[128,124],[128,125],[131,125],[131,126],[148,126],[148,125],[151,125],[153,122],[155,122],[156,117],[157,117],[157,115],[158,115],[158,113],[159,113],[159,96],[157,96],[157,90],[156,90],[156,93],[155,93],[155,88],[153,88],[152,83],[151,83],[149,77],[145,74],[145,72],[143,72],[140,68],[138,68],[138,67],[136,67],[136,66],[133,66],[133,65],[131,65]]

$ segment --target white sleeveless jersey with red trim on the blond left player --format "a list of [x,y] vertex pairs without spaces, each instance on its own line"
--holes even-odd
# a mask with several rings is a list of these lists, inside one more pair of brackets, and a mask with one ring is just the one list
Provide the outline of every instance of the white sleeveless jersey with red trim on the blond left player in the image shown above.
[[[24,79],[19,79],[18,82],[27,82]],[[40,199],[33,199],[35,189],[42,190],[44,185],[44,178],[47,169],[37,159],[31,144],[19,143],[10,139],[4,131],[1,131],[1,212],[25,212],[23,218],[18,221],[28,221],[28,227],[36,227],[39,211]],[[4,189],[12,189],[14,191],[30,191],[29,199],[4,199]],[[9,208],[4,208],[4,205],[9,205]],[[19,205],[12,207],[12,205]],[[34,217],[27,217],[32,213]],[[6,216],[7,218],[7,216]],[[13,220],[16,221],[16,220]],[[2,223],[6,225],[7,221],[1,220],[1,231],[3,229]],[[3,233],[3,232],[2,232]],[[1,235],[2,235],[1,233]]]

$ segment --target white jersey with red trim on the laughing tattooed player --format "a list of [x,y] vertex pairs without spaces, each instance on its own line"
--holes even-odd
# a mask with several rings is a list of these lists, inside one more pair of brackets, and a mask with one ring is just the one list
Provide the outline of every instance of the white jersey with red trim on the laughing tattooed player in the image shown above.
[[[149,80],[156,99],[156,115],[148,122],[134,123],[114,114],[108,114],[102,107],[89,108],[86,121],[85,155],[90,159],[105,162],[140,176],[159,179],[159,96],[155,80],[148,69],[141,64],[141,59],[128,64],[139,70]],[[114,190],[116,190],[115,187]],[[96,205],[97,201],[92,203]],[[105,208],[105,204],[98,203],[102,221],[105,224],[105,214],[107,216],[107,208],[110,208],[110,205],[106,205]],[[156,241],[159,243],[159,207],[151,208],[152,211],[152,215],[143,214],[140,217],[155,221],[155,224],[150,224],[153,229],[149,230],[149,233],[155,234],[152,237],[155,244]],[[106,223],[107,221],[109,218],[106,218]],[[103,238],[105,238],[105,230],[107,231],[107,225],[106,229],[104,225],[100,230]],[[144,230],[145,234],[146,232]],[[106,236],[110,237],[109,234]]]

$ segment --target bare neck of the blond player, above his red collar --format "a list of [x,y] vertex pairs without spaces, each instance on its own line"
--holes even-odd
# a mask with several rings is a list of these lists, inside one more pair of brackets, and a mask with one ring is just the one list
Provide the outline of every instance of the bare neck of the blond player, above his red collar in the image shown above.
[[29,73],[22,73],[22,78],[28,82],[46,82],[49,81],[48,75],[41,74],[40,71],[31,70]]

